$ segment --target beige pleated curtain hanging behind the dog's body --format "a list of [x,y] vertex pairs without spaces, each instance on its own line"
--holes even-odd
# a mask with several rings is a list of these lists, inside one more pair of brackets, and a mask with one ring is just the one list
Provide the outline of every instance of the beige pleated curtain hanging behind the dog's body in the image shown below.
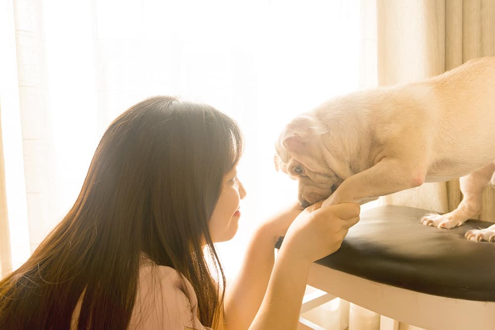
[[[471,58],[495,55],[495,0],[363,0],[376,6],[377,85],[391,86],[441,74]],[[372,18],[368,17],[368,20]],[[372,58],[372,47],[363,56]],[[368,66],[372,62],[366,62]],[[362,81],[373,81],[364,67]],[[366,76],[366,74],[368,76]],[[366,86],[369,87],[369,86]],[[476,132],[473,132],[476,134]],[[380,198],[382,204],[405,205],[446,213],[462,199],[459,180],[427,183]],[[483,194],[481,220],[495,220],[495,189]],[[376,329],[366,328],[367,330]],[[399,324],[400,330],[418,329]],[[357,330],[357,328],[349,330]]]

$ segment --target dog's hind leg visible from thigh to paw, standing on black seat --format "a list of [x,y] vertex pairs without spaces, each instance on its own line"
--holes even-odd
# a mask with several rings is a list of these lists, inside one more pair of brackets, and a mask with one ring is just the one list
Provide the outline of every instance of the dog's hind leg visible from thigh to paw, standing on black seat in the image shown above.
[[430,214],[421,219],[425,226],[438,228],[454,228],[462,225],[481,211],[483,190],[491,181],[495,172],[495,164],[487,165],[459,179],[462,201],[457,208],[449,213]]

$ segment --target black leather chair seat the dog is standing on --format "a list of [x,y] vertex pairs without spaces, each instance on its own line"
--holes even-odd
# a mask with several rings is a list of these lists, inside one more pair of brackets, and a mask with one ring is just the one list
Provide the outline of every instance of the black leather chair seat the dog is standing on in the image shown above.
[[464,238],[493,223],[470,220],[450,230],[421,225],[430,212],[393,205],[363,211],[341,248],[316,263],[423,293],[495,301],[495,243]]

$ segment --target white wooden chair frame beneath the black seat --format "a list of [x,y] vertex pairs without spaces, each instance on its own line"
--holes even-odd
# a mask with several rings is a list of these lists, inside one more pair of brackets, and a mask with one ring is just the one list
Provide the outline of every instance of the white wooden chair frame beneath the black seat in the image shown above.
[[[495,279],[494,279],[495,281]],[[381,316],[380,330],[398,330],[400,322],[427,330],[493,330],[495,302],[454,299],[369,281],[313,264],[308,283],[322,291],[303,299],[301,313],[336,297]],[[325,330],[299,318],[298,330]]]

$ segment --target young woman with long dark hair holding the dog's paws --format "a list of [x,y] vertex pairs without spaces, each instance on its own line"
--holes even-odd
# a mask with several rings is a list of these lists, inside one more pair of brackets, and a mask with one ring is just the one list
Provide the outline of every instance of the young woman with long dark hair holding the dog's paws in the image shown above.
[[0,282],[0,329],[295,329],[310,264],[339,248],[359,205],[281,212],[226,286],[214,242],[238,228],[242,150],[208,105],[156,96],[122,113],[71,210]]

